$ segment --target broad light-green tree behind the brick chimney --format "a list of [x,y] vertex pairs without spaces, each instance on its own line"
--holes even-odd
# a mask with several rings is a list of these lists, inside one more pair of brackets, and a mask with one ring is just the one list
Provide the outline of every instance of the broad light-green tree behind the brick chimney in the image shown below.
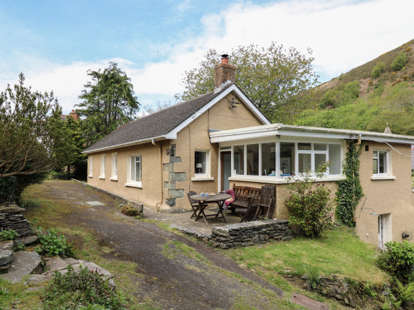
[[[295,48],[285,50],[273,42],[270,46],[239,46],[230,53],[230,64],[236,68],[236,84],[246,92],[255,105],[272,121],[290,121],[306,107],[317,84],[311,57]],[[188,100],[214,88],[214,67],[219,54],[210,49],[197,68],[184,72],[184,93],[177,99]]]

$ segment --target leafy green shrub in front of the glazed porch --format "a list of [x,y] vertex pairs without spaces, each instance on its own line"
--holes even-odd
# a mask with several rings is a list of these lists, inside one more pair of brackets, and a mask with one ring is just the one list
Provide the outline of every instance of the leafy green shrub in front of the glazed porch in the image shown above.
[[309,173],[302,178],[288,178],[290,196],[285,201],[289,210],[289,223],[306,236],[319,235],[332,222],[331,190],[324,184],[313,186],[314,178],[323,178],[328,164],[319,167],[315,176]]

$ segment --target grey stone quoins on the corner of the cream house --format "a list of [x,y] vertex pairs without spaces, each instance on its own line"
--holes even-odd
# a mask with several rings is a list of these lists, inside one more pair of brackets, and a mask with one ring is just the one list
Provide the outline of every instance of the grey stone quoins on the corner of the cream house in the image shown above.
[[168,182],[164,182],[164,189],[168,189],[168,198],[166,198],[166,205],[175,207],[177,198],[184,198],[184,189],[177,189],[177,182],[185,182],[187,176],[185,172],[174,172],[174,163],[181,163],[181,157],[175,156],[175,144],[171,144],[167,149],[169,156],[169,163],[162,165],[163,172],[168,172]]

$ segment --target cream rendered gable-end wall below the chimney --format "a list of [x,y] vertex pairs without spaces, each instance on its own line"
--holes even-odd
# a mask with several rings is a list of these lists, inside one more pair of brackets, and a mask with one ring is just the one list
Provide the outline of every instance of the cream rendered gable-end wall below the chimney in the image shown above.
[[[185,172],[187,176],[186,181],[176,183],[176,189],[184,189],[184,198],[177,198],[175,207],[190,209],[186,195],[190,190],[197,193],[217,192],[219,147],[217,144],[210,143],[208,129],[230,130],[263,125],[243,103],[230,109],[228,103],[233,96],[233,94],[228,94],[210,110],[198,116],[193,123],[181,130],[177,134],[176,140],[170,141],[171,144],[177,145],[176,156],[181,157],[181,163],[174,163],[174,172]],[[236,99],[239,101],[237,97]],[[213,177],[213,180],[191,180],[195,177],[195,151],[210,152],[210,177]]]

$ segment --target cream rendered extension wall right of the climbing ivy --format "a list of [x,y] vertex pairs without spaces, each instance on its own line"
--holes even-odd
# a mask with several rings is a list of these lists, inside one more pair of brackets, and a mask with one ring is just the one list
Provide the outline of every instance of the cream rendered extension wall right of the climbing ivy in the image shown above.
[[[357,234],[366,242],[378,244],[378,218],[372,216],[372,210],[361,209],[368,207],[375,209],[377,214],[391,214],[391,229],[386,231],[389,241],[402,240],[402,231],[414,231],[413,192],[411,190],[411,158],[395,152],[385,143],[366,142],[369,149],[362,151],[359,177],[364,197],[355,210],[357,220]],[[392,144],[397,151],[410,156],[410,145]],[[363,146],[364,147],[364,146]],[[395,180],[371,180],[373,176],[373,150],[387,150],[391,155],[392,176]],[[367,236],[368,234],[368,236]]]

